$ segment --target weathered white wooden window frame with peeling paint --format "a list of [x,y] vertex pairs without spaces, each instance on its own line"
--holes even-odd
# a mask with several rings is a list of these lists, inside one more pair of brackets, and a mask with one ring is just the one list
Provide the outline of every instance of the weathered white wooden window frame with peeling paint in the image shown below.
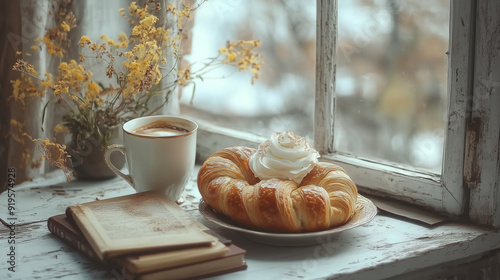
[[[494,27],[500,25],[500,5],[496,0],[450,2],[449,107],[443,175],[334,151],[337,0],[317,0],[314,145],[322,160],[346,168],[361,191],[439,213],[469,215],[474,222],[499,227],[500,59],[492,43],[499,42],[500,36],[494,33],[498,28]],[[486,69],[484,65],[490,67]],[[484,98],[484,92],[489,92],[488,98]],[[256,147],[265,140],[251,133],[197,121],[201,161],[224,147]],[[491,156],[492,151],[496,151],[496,157]]]

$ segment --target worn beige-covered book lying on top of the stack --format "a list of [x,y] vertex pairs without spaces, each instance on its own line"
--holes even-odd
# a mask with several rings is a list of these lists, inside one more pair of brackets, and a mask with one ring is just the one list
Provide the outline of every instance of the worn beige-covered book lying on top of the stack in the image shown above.
[[203,232],[175,202],[143,192],[69,206],[77,225],[101,260],[121,255],[212,246],[217,238]]

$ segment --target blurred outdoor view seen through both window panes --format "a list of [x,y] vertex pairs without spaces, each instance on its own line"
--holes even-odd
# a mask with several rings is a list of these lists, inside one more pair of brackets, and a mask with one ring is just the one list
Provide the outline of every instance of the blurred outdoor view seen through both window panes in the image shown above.
[[[449,0],[339,0],[335,149],[441,172]],[[197,11],[196,61],[227,40],[259,39],[261,77],[219,68],[182,92],[181,112],[264,137],[313,143],[316,1],[211,0]]]

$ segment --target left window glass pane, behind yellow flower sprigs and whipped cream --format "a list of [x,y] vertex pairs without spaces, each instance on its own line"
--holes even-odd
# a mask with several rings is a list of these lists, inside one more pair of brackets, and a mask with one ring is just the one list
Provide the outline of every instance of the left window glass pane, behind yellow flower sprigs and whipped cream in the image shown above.
[[[221,67],[182,91],[181,113],[269,137],[291,129],[312,138],[316,3],[300,0],[210,0],[196,11],[191,52],[214,57],[226,41],[260,40],[264,65],[251,85],[249,72]],[[193,108],[195,110],[193,110]]]

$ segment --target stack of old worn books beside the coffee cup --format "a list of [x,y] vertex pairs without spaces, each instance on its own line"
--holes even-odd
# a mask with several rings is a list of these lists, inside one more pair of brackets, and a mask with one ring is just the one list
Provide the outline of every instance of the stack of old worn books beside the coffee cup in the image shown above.
[[136,279],[192,279],[246,269],[246,251],[175,202],[144,192],[69,206],[49,231],[92,260]]

